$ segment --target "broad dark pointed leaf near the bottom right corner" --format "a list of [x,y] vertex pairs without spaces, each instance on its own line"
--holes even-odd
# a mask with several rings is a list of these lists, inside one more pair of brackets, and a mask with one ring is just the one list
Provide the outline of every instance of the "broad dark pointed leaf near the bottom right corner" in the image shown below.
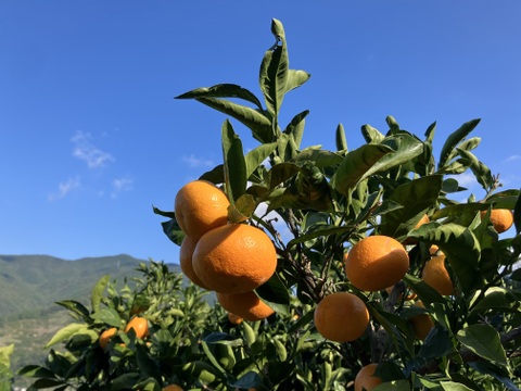
[[459,330],[456,338],[462,345],[488,360],[496,365],[506,368],[508,365],[505,349],[501,345],[499,333],[490,325],[469,325]]

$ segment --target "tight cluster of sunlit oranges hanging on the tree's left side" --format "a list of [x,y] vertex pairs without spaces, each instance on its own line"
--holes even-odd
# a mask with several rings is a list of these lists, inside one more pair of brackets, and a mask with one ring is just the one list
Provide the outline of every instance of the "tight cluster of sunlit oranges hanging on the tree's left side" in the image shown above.
[[259,228],[228,222],[230,202],[214,184],[193,180],[175,201],[176,220],[186,237],[179,253],[183,274],[215,291],[220,305],[246,320],[268,317],[274,310],[254,292],[277,267],[277,253]]

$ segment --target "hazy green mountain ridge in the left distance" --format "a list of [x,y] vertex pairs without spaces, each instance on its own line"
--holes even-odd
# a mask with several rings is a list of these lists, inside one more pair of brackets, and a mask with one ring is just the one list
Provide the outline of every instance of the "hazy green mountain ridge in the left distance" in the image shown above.
[[110,275],[118,282],[130,280],[141,275],[136,268],[142,262],[148,261],[127,254],[76,261],[50,255],[0,255],[0,318],[38,317],[59,310],[56,301],[86,301],[101,277]]

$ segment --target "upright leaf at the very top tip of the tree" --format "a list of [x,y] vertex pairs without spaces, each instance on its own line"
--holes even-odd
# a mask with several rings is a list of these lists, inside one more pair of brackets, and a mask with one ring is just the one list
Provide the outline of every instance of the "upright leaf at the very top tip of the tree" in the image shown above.
[[268,112],[276,118],[287,92],[289,79],[289,60],[282,24],[274,18],[271,33],[276,43],[266,51],[259,72],[259,85],[266,100]]

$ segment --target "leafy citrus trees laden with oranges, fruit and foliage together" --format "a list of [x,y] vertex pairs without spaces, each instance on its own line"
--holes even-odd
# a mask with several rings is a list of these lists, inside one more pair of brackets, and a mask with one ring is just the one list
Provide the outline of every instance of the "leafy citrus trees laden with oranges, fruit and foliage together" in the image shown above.
[[[441,151],[435,123],[418,136],[392,116],[356,149],[342,125],[334,151],[303,147],[309,112],[279,114],[309,75],[271,33],[260,99],[233,84],[177,97],[230,118],[223,163],[154,209],[192,283],[155,263],[134,291],[102,279],[91,308],[60,303],[77,321],[48,346],[67,352],[21,374],[81,390],[518,390],[521,198],[476,156],[479,119]],[[461,201],[467,172],[483,198]]]

